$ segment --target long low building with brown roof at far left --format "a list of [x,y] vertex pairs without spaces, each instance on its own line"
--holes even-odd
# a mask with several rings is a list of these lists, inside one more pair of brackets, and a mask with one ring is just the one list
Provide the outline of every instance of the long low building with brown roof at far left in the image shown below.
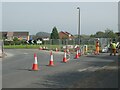
[[19,40],[29,40],[29,32],[0,32],[6,41],[13,41],[16,37]]

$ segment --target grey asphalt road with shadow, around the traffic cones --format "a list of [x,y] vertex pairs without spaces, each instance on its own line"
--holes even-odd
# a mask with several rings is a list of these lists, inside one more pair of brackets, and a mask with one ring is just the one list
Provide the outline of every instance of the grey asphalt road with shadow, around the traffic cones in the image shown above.
[[[93,77],[100,74],[100,72],[96,73],[97,70],[99,71],[105,66],[116,62],[117,56],[100,54],[98,56],[88,55],[81,56],[79,59],[73,59],[75,55],[72,54],[71,59],[67,63],[62,63],[63,53],[54,52],[55,66],[50,67],[47,66],[50,60],[50,52],[48,51],[37,49],[5,49],[5,52],[8,56],[2,60],[3,88],[118,87],[117,72],[114,73],[116,77],[113,77],[112,81],[110,80],[111,77],[107,79],[105,82],[108,83],[107,85],[99,85],[99,83],[96,83],[97,79]],[[32,63],[34,62],[34,53],[37,53],[38,57],[38,71],[31,71]],[[106,75],[108,77],[108,74]],[[101,78],[105,79],[105,77],[103,75]],[[89,82],[86,81],[87,79],[89,81],[94,80],[94,84],[96,84],[89,86],[87,84]]]

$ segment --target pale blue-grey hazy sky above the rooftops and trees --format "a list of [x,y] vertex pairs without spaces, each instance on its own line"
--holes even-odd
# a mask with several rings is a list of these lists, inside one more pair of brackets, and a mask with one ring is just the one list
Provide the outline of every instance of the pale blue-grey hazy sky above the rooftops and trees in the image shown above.
[[117,2],[2,2],[2,30],[51,33],[78,33],[78,10],[81,34],[95,34],[107,28],[118,31]]

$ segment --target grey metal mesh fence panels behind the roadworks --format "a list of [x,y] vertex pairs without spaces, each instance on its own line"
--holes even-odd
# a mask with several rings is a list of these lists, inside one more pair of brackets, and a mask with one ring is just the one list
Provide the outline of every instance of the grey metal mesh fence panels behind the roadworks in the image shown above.
[[[105,46],[109,45],[110,38],[99,38],[100,48],[103,49]],[[88,48],[95,49],[96,38],[83,38],[81,39],[80,46],[88,45]],[[76,46],[78,45],[77,39],[50,39],[49,41],[44,41],[43,45],[58,45],[59,48],[67,45]]]

